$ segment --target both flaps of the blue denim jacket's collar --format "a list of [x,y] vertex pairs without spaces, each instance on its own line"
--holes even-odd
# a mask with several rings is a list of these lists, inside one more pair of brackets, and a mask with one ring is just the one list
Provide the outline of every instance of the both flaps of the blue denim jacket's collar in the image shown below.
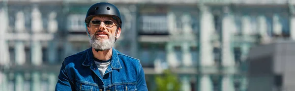
[[[87,55],[82,65],[88,67],[93,64],[94,64],[94,59],[93,59],[92,47],[90,47],[89,49],[87,49]],[[112,57],[111,57],[110,65],[113,69],[122,68],[119,62],[118,52],[114,47],[112,49]]]

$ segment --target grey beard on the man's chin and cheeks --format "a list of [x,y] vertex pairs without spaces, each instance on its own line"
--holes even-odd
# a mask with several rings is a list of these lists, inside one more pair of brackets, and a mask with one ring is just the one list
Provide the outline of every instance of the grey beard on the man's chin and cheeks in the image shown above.
[[95,34],[90,37],[90,45],[94,49],[107,50],[111,49],[115,45],[115,36],[109,35],[109,39],[95,38]]

